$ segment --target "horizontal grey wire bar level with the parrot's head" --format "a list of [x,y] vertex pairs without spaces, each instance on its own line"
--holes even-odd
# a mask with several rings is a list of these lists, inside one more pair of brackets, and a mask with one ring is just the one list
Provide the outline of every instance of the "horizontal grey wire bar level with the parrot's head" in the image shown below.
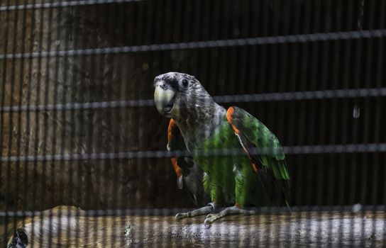
[[[261,101],[298,101],[330,98],[355,98],[355,97],[379,97],[386,96],[386,88],[370,89],[336,89],[326,91],[296,91],[283,93],[266,94],[245,94],[245,95],[226,95],[214,96],[217,103],[241,103],[241,102],[261,102]],[[103,108],[128,108],[154,106],[153,99],[130,100],[130,101],[102,101],[92,103],[65,103],[48,105],[23,105],[23,106],[4,106],[0,107],[0,112],[19,112],[19,111],[71,111]]]

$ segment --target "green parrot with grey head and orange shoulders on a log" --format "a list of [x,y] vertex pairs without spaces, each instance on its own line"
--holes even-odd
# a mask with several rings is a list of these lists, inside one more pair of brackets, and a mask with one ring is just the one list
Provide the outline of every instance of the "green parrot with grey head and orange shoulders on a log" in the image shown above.
[[[204,224],[226,215],[251,215],[247,206],[286,205],[289,173],[277,137],[247,111],[217,104],[193,76],[180,72],[154,79],[155,106],[178,128],[194,163],[204,171],[202,186],[210,203],[176,218],[207,215]],[[173,135],[168,135],[171,150]],[[211,151],[230,151],[215,154]],[[240,150],[231,153],[232,150]],[[177,157],[172,157],[178,175]],[[174,161],[174,162],[173,162]],[[225,207],[218,211],[219,207]]]

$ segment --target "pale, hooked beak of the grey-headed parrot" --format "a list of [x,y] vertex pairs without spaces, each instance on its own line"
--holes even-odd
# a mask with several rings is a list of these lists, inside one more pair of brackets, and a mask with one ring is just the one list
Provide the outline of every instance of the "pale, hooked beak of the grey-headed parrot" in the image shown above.
[[172,111],[175,103],[175,91],[162,89],[161,86],[155,86],[154,101],[158,113],[168,115],[170,111]]

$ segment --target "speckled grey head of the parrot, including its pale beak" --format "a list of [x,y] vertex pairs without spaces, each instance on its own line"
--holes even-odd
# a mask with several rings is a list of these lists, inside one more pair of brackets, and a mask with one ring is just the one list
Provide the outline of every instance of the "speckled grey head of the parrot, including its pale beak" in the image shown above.
[[200,82],[189,74],[167,72],[154,79],[154,101],[160,114],[178,118],[192,108],[213,101]]

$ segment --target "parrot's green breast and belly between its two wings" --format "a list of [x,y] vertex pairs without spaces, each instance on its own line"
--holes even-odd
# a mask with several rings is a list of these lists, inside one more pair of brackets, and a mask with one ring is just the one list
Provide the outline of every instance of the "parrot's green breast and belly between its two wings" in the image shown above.
[[204,191],[210,194],[212,201],[231,205],[236,201],[236,174],[240,174],[241,168],[249,168],[251,173],[253,171],[246,154],[230,153],[242,147],[226,120],[226,109],[219,106],[214,113],[206,116],[205,120],[190,118],[186,123],[177,124],[187,150],[204,171]]

